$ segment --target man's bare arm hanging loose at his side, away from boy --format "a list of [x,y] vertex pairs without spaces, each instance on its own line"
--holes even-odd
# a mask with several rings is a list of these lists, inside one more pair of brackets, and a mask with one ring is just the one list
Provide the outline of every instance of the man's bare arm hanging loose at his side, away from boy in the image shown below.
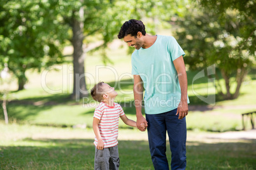
[[177,108],[176,115],[179,114],[179,119],[183,119],[183,117],[185,117],[188,114],[188,103],[187,103],[188,81],[187,81],[187,73],[185,69],[183,56],[180,56],[179,58],[174,60],[173,63],[178,73],[178,79],[180,82],[180,89],[181,89],[181,99]]

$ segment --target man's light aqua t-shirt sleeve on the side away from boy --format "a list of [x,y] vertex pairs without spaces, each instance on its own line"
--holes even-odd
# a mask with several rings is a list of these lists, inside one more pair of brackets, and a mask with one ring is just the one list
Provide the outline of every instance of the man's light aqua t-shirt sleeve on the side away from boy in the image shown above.
[[181,55],[185,55],[183,49],[180,47],[180,44],[178,44],[176,39],[172,36],[169,38],[167,49],[171,54],[171,60],[173,61],[179,58]]

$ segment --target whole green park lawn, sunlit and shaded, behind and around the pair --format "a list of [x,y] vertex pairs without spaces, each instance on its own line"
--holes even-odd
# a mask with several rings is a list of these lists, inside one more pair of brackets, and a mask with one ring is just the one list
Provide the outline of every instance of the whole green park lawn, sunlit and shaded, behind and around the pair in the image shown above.
[[[87,88],[91,89],[98,81],[114,86],[118,92],[116,102],[122,105],[127,117],[136,121],[129,74],[131,56],[124,55],[125,52],[126,49],[109,51],[115,64],[108,67],[103,66],[99,54],[87,55]],[[69,98],[73,84],[70,67],[69,59],[55,67],[57,70],[46,70],[46,74],[30,70],[23,91],[15,91],[17,82],[10,84],[8,126],[0,110],[0,169],[93,169],[92,117],[97,103],[90,96],[80,101]],[[197,73],[187,72],[192,108],[186,118],[187,128],[191,130],[188,135],[241,130],[241,114],[256,108],[255,70],[246,77],[239,98],[227,101],[214,95],[213,84],[208,84],[207,77],[193,81]],[[52,94],[57,90],[61,93]],[[215,100],[208,105],[198,95],[210,95]],[[78,124],[87,128],[71,128]],[[251,128],[248,120],[246,128]],[[118,147],[122,169],[153,169],[145,135],[120,121]],[[212,140],[211,143],[188,140],[187,169],[255,169],[255,148],[255,140]],[[171,159],[168,149],[167,157]]]

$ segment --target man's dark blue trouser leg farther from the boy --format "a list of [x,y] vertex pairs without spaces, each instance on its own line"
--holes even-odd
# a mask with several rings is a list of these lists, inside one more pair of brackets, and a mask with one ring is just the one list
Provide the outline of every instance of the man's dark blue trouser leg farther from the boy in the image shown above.
[[171,169],[185,169],[187,127],[186,118],[178,119],[177,109],[167,112],[166,127],[171,148]]

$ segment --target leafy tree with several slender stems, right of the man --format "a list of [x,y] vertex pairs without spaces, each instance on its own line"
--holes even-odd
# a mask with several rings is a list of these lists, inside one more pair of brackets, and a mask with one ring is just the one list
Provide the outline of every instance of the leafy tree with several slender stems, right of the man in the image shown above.
[[[190,69],[196,70],[215,64],[225,80],[225,92],[218,82],[217,91],[224,99],[239,96],[239,89],[250,66],[255,63],[254,18],[244,18],[237,10],[225,10],[219,15],[213,10],[197,6],[188,9],[185,18],[176,22],[181,46],[187,50],[185,58]],[[216,72],[217,81],[219,80]],[[232,81],[232,77],[235,77]],[[234,85],[234,92],[231,86]]]

